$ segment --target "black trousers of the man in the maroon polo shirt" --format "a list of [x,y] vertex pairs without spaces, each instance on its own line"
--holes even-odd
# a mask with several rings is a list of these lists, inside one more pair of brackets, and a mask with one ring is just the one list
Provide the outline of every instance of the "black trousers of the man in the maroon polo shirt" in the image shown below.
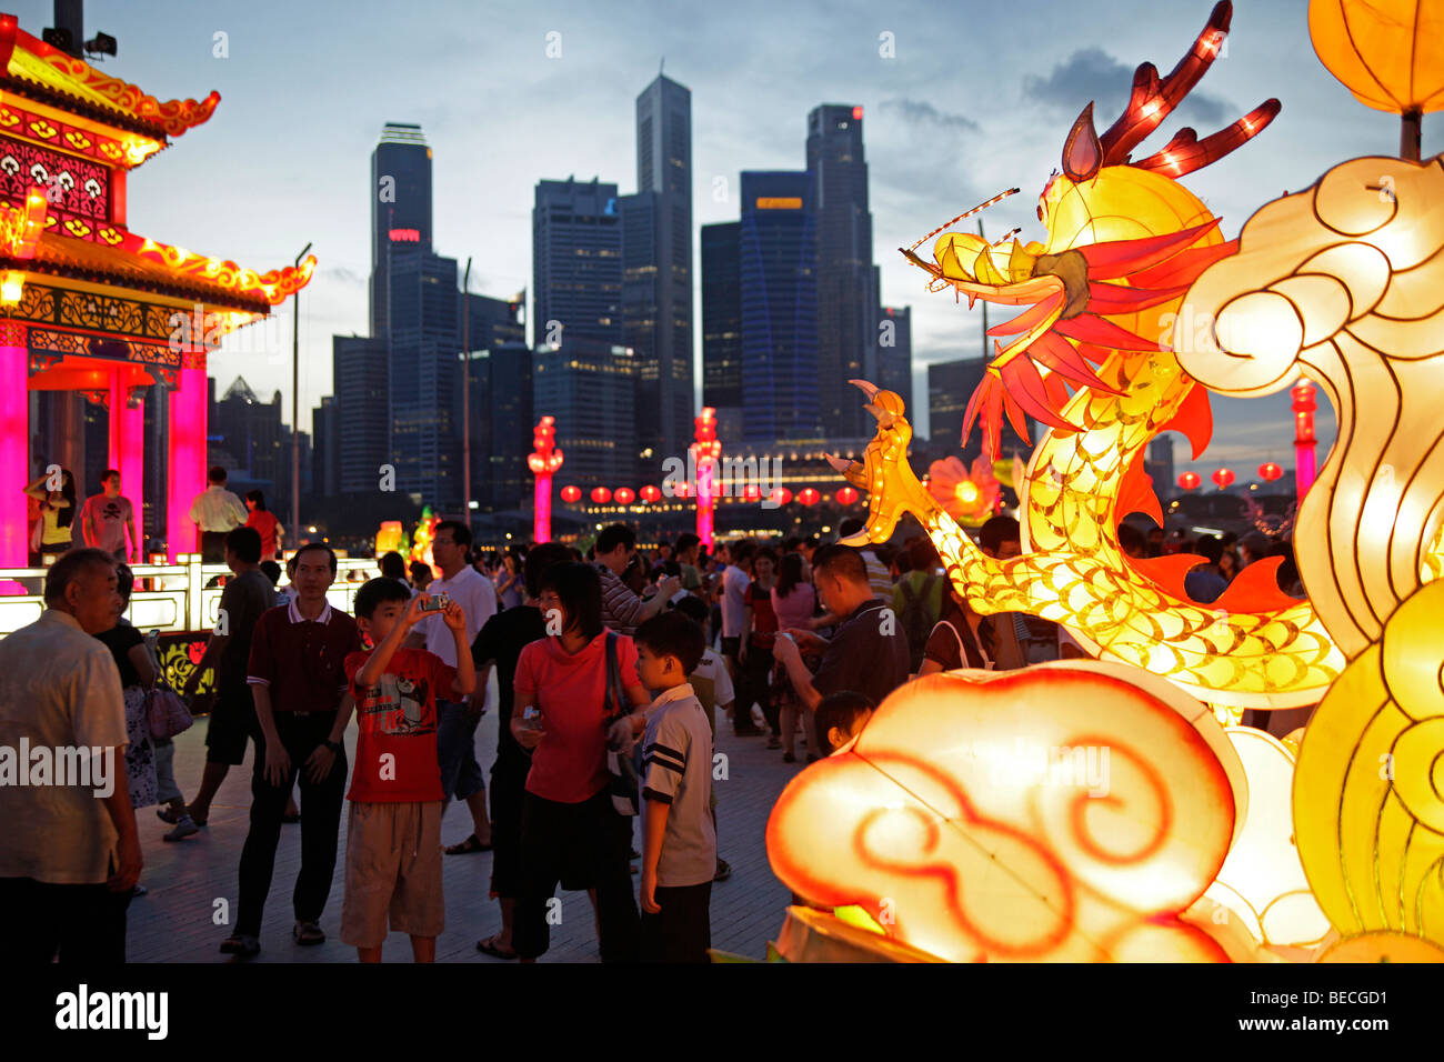
[[241,850],[241,902],[235,932],[260,936],[266,896],[276,870],[276,845],[280,842],[282,815],[296,774],[300,774],[300,873],[292,906],[297,922],[318,922],[331,896],[331,876],[336,870],[336,837],[341,831],[341,803],[347,792],[347,754],[331,764],[331,773],[312,782],[303,770],[306,760],[328,737],[335,712],[276,712],[276,734],[290,757],[290,773],[282,785],[266,780],[266,738],[256,734],[256,770],[251,773],[251,831]]

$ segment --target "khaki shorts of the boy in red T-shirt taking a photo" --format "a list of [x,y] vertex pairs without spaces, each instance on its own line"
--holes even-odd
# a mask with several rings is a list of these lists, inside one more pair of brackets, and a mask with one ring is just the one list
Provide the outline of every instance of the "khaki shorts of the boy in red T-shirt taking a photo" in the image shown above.
[[380,948],[390,929],[440,936],[442,802],[351,802],[341,941]]

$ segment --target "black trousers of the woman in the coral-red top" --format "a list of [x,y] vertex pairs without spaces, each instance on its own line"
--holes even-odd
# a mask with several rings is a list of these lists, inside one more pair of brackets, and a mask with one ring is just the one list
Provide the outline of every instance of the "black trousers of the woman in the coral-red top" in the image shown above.
[[[596,889],[602,962],[635,962],[638,920],[630,852],[631,819],[617,813],[609,790],[580,803],[527,793],[521,808],[521,889],[511,936],[517,954],[527,959],[546,954],[552,944],[547,902],[559,881],[570,880]],[[572,918],[580,910],[585,906],[573,903]]]

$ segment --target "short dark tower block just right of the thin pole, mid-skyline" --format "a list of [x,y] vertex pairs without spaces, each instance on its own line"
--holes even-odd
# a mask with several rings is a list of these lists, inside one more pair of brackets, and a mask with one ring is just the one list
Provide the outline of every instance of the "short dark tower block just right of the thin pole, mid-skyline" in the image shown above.
[[[531,350],[524,342],[504,342],[472,361],[475,380],[485,380],[487,439],[477,500],[494,510],[521,510],[531,504]],[[554,416],[554,415],[553,415]],[[565,451],[563,451],[565,452]],[[570,454],[567,454],[570,464]],[[472,458],[475,474],[477,458]],[[565,467],[565,465],[563,465]]]

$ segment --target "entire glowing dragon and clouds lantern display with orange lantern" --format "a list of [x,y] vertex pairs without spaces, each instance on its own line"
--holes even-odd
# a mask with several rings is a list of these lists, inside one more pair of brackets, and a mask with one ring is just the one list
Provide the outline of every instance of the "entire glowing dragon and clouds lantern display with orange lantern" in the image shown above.
[[[838,462],[869,494],[852,542],[911,513],[972,608],[1060,623],[1097,659],[915,681],[803,770],[767,828],[804,902],[773,958],[1444,961],[1444,159],[1418,160],[1419,116],[1444,105],[1444,3],[1313,0],[1320,58],[1404,116],[1402,157],[1343,162],[1225,240],[1181,179],[1262,131],[1276,100],[1132,152],[1230,13],[1217,4],[1167,77],[1139,66],[1105,133],[1083,110],[1038,201],[1044,241],[946,233],[931,262],[904,251],[934,290],[1024,308],[991,329],[1009,338],[963,429],[980,422],[996,458],[1004,418],[1024,438],[1024,415],[1043,426],[1022,553],[973,545],[950,511],[960,470],[953,490],[920,484],[902,400],[862,381],[877,436]],[[1197,459],[1209,392],[1305,377],[1339,416],[1300,484],[1308,600],[1256,562],[1203,604],[1183,579],[1204,558],[1123,555],[1122,517],[1162,523],[1154,436],[1186,433]],[[965,494],[973,517],[982,491]],[[1279,708],[1313,715],[1282,741],[1240,725]]]

